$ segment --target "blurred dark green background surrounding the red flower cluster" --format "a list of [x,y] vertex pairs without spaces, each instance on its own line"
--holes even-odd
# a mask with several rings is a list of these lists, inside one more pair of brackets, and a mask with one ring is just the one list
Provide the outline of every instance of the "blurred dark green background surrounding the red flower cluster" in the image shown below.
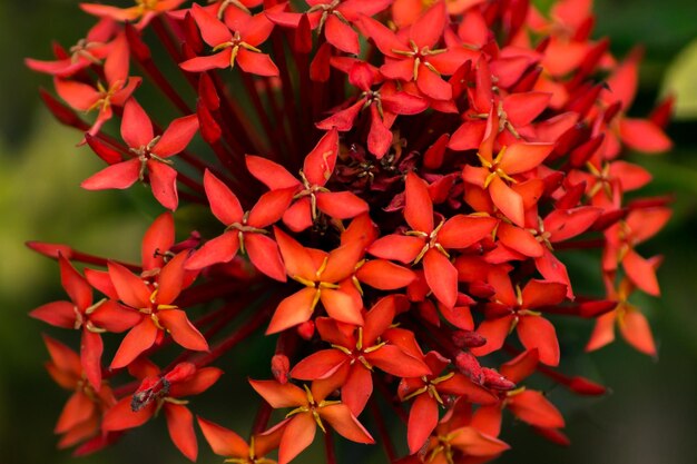
[[[596,37],[610,36],[616,53],[622,56],[637,43],[646,48],[632,112],[646,115],[659,95],[678,93],[678,117],[668,129],[675,150],[634,158],[655,174],[651,194],[675,195],[671,223],[642,247],[646,256],[666,256],[659,270],[662,297],[637,302],[651,319],[659,361],[621,340],[590,356],[571,354],[567,367],[611,386],[613,393],[579,399],[552,388],[550,398],[568,418],[572,446],[550,445],[526,426],[511,424],[502,437],[514,451],[500,462],[691,464],[697,462],[697,2],[597,0],[596,10]],[[184,463],[168,443],[161,418],[109,451],[78,461],[69,451],[57,451],[51,434],[68,394],[43,371],[48,356],[40,334],[60,332],[27,313],[63,294],[56,265],[30,253],[23,241],[61,241],[137,259],[148,224],[131,198],[79,188],[100,164],[86,148],[75,147],[79,135],[60,127],[39,105],[37,88],[50,87],[50,81],[22,63],[24,57],[48,58],[51,40],[73,43],[90,23],[73,0],[0,2],[0,462]],[[585,263],[575,265],[582,269]],[[591,323],[571,328],[565,353],[579,351]],[[258,340],[247,345],[256,347],[266,349]],[[233,426],[248,417],[243,402],[234,399],[234,378],[259,367],[249,358],[228,363],[228,375],[215,387],[224,403],[203,402],[197,411]],[[203,444],[200,448],[199,462],[220,462]],[[375,462],[382,462],[376,454]],[[314,460],[304,455],[298,462]]]

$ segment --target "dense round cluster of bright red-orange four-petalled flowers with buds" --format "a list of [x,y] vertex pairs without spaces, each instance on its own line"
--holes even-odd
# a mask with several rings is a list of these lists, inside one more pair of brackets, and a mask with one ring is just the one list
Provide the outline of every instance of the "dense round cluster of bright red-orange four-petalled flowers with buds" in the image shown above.
[[[670,148],[671,103],[627,115],[640,53],[616,60],[591,39],[590,0],[184,3],[82,3],[99,18],[87,37],[27,60],[53,77],[48,108],[107,165],[82,187],[139,181],[170,210],[140,264],[29,244],[58,259],[68,294],[31,316],[81,336],[79,354],[45,338],[50,374],[73,392],[59,446],[100,450],[164,411],[193,461],[197,422],[233,463],[286,464],[317,427],[331,464],[332,431],[377,434],[390,462],[483,463],[509,448],[503,409],[568,442],[528,376],[605,392],[557,368],[553,320],[595,320],[587,351],[617,323],[656,354],[628,298],[659,294],[660,258],[637,246],[670,210],[627,199],[651,176],[621,155]],[[177,117],[154,122],[145,95]],[[177,241],[180,200],[212,220]],[[575,295],[573,250],[597,257],[605,294]],[[214,363],[264,330],[276,348],[269,378],[248,381],[261,396],[239,431],[249,440],[195,421],[189,399],[223,374]]]

